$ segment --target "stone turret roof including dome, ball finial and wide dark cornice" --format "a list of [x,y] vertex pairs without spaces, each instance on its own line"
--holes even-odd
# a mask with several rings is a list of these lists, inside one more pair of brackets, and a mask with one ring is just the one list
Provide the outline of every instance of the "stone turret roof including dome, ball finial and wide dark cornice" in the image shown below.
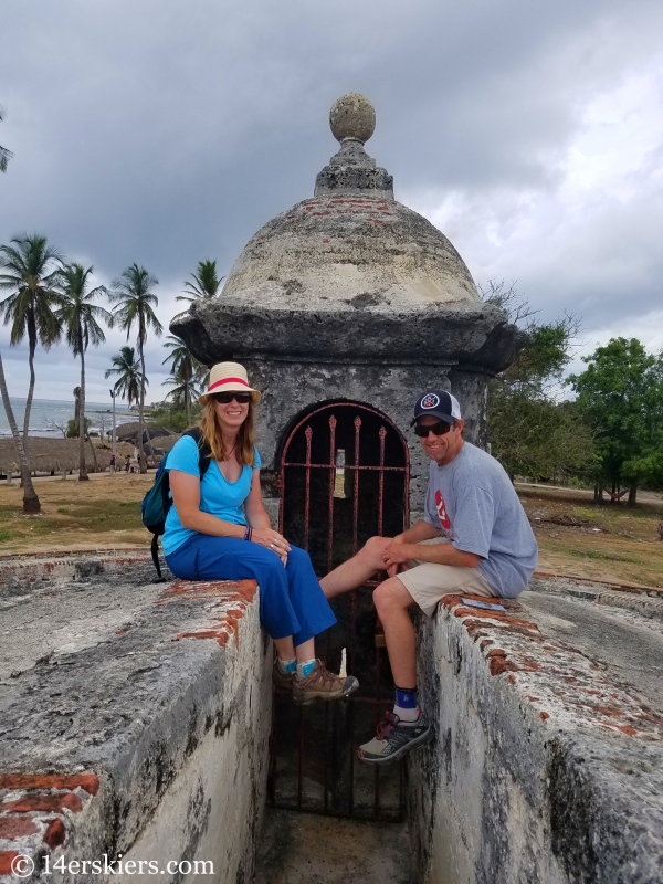
[[221,294],[170,329],[207,365],[224,359],[433,360],[502,370],[518,333],[485,304],[465,263],[430,221],[393,198],[368,156],[368,98],[330,113],[338,152],[314,196],[269,221],[244,246]]

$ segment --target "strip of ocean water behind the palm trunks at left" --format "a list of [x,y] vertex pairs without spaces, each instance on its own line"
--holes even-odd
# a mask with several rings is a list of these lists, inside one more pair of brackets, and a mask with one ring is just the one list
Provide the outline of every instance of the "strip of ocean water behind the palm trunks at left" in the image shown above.
[[[11,407],[19,424],[19,430],[23,428],[23,415],[25,414],[25,399],[10,397]],[[57,399],[33,399],[30,410],[30,435],[39,435],[45,439],[62,439],[64,433],[57,424],[66,429],[66,422],[74,417],[73,400],[61,401]],[[91,430],[108,432],[113,429],[113,403],[112,402],[86,402],[85,417],[92,421]],[[117,424],[127,423],[131,419],[137,419],[134,411],[129,411],[126,406],[115,403],[115,420]],[[4,409],[0,404],[0,439],[11,436],[9,421]]]

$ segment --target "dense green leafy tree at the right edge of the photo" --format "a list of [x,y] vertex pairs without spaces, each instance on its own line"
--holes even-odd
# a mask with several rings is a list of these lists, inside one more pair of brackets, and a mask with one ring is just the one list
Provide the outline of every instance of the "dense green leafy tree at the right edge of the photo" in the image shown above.
[[663,456],[663,354],[648,354],[636,338],[612,338],[582,357],[587,365],[568,383],[577,407],[596,428],[599,464],[596,494],[608,483],[615,499],[629,486],[629,505],[636,502],[638,485],[656,481]]

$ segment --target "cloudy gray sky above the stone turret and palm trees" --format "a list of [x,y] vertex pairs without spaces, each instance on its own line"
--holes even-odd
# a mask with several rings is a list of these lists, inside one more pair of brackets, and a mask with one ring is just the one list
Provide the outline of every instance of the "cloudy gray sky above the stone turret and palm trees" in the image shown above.
[[[474,278],[516,281],[543,318],[663,348],[660,0],[30,0],[2,10],[0,242],[43,232],[108,284],[138,262],[167,325],[199,260],[228,273],[265,221],[313,193],[347,92],[369,152]],[[88,355],[88,400],[117,332]],[[0,349],[24,396],[25,351]],[[164,350],[147,349],[160,399]],[[577,361],[577,360],[576,360]],[[580,365],[578,362],[578,365]],[[36,396],[76,366],[40,352]]]

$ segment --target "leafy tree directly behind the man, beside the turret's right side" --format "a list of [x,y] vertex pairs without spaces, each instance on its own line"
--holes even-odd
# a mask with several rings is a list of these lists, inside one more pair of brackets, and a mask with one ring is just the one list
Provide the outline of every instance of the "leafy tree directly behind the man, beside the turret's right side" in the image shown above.
[[516,474],[565,478],[586,472],[593,463],[591,429],[572,403],[559,401],[578,322],[572,316],[535,322],[527,302],[504,282],[491,282],[482,295],[519,324],[523,335],[516,360],[488,387],[492,453],[512,480]]

